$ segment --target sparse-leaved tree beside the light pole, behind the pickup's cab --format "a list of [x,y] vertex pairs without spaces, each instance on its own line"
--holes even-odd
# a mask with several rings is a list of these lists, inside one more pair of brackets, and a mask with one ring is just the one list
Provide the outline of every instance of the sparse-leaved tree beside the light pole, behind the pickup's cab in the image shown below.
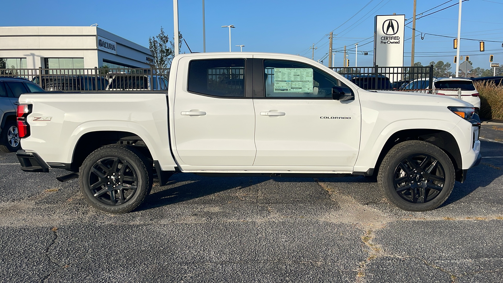
[[[182,47],[182,33],[178,33],[179,48]],[[175,57],[175,43],[170,40],[170,37],[164,33],[162,27],[156,36],[148,38],[148,47],[152,52],[153,59],[147,59],[147,63],[156,68],[167,68],[171,65],[173,57]]]

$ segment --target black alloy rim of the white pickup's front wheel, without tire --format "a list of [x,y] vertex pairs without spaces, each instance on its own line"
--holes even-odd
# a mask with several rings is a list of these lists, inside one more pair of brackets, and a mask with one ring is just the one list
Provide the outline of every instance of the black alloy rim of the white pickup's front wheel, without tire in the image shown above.
[[398,164],[393,183],[401,198],[412,203],[425,203],[442,192],[445,170],[438,159],[427,154],[413,154]]

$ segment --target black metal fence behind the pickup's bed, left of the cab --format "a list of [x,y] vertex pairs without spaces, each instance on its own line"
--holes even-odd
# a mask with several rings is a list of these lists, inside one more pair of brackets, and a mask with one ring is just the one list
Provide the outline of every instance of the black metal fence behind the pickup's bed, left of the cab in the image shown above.
[[22,78],[46,91],[166,91],[169,68],[0,69],[0,77]]

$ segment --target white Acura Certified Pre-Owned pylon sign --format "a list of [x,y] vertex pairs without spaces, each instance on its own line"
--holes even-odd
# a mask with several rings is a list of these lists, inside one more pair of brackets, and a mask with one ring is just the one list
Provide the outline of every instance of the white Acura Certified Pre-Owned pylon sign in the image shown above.
[[[403,66],[403,32],[405,15],[375,16],[374,65]],[[399,78],[390,78],[396,81]]]

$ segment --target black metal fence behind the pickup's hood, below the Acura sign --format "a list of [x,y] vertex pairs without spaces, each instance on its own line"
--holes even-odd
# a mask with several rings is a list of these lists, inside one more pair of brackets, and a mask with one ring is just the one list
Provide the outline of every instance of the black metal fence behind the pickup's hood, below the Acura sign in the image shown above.
[[332,69],[366,90],[431,91],[433,65],[403,67],[332,67]]

